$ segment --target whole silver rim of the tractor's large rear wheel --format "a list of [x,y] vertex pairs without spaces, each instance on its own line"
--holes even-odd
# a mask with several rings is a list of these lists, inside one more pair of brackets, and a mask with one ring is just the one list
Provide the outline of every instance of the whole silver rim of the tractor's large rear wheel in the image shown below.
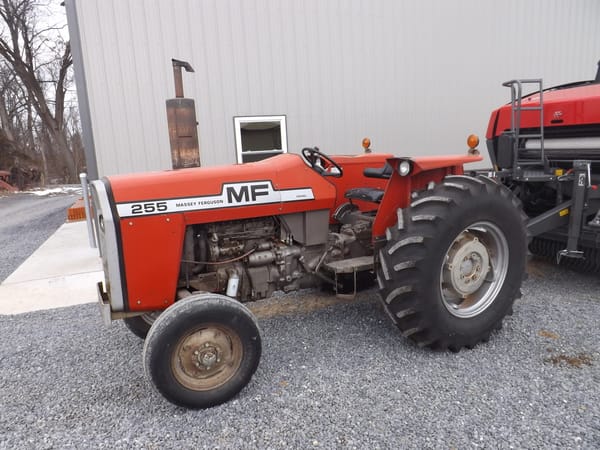
[[440,274],[446,309],[456,317],[475,317],[496,299],[508,272],[508,241],[490,222],[465,228],[448,247]]

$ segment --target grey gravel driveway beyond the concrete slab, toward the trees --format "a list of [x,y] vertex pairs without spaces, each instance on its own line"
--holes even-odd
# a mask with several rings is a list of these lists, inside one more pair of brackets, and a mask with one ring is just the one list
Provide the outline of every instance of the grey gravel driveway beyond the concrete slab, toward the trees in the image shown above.
[[60,227],[77,195],[0,196],[0,283]]

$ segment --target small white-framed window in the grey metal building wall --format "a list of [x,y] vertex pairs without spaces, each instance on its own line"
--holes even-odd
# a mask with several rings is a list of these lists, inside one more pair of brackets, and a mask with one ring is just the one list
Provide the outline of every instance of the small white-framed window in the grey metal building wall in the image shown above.
[[234,117],[233,124],[238,163],[287,153],[285,116]]

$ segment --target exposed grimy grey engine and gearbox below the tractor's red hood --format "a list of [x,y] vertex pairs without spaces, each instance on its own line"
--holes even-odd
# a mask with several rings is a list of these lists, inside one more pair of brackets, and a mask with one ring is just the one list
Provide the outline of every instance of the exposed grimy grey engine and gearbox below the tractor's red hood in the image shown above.
[[304,245],[281,217],[217,222],[186,230],[179,288],[226,294],[241,301],[290,292],[328,280],[328,262],[372,254],[371,227],[356,221]]

